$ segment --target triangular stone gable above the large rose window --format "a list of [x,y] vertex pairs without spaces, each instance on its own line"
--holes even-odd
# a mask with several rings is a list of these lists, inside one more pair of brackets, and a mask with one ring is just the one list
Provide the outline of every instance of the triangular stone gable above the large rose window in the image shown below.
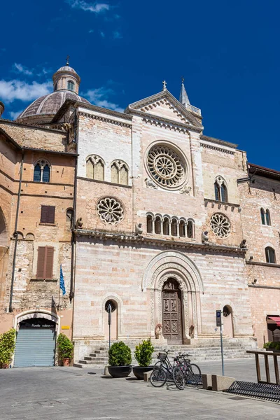
[[131,104],[126,112],[140,111],[181,124],[202,127],[201,123],[168,90]]

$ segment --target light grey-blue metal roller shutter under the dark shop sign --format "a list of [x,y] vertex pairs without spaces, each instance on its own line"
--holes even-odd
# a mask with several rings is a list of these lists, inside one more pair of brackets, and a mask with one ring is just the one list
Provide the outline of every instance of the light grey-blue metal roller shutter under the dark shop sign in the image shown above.
[[55,336],[52,328],[20,329],[15,343],[14,367],[53,366]]

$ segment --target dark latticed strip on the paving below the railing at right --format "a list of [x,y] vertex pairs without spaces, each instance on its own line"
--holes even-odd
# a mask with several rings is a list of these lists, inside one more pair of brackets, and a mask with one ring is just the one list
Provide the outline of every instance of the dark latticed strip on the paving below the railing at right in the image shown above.
[[280,402],[280,385],[276,384],[255,384],[254,382],[235,381],[225,392]]

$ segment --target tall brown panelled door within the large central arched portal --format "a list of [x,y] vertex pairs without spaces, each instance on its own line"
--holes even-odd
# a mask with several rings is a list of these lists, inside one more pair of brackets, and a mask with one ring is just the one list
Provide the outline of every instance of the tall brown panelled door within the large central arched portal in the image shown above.
[[168,344],[183,343],[181,290],[172,278],[162,287],[162,334]]

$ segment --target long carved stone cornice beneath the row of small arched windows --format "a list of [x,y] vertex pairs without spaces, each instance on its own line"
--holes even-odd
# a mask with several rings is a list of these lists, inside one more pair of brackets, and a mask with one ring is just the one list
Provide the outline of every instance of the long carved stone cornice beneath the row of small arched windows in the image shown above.
[[187,242],[187,241],[176,241],[172,239],[160,239],[155,237],[147,237],[144,235],[135,235],[127,233],[115,233],[115,232],[100,232],[97,230],[87,229],[75,229],[73,231],[76,237],[94,237],[96,239],[102,239],[104,241],[116,241],[116,242],[130,242],[132,244],[153,244],[157,246],[167,246],[169,248],[185,248],[193,249],[197,251],[219,251],[221,253],[237,253],[245,255],[247,248],[240,248],[239,246],[226,246],[217,245],[211,243],[199,243],[199,242]]

